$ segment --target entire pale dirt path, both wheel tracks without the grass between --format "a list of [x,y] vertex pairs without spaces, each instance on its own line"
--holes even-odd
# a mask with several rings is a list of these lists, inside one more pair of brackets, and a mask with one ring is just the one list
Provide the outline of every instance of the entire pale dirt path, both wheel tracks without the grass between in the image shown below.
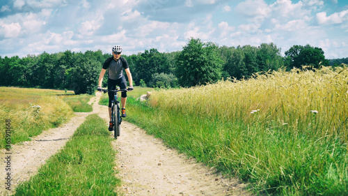
[[[11,191],[5,190],[6,154],[1,153],[0,195],[13,194],[15,187],[30,179],[49,156],[61,149],[86,116],[95,113],[109,122],[107,107],[98,105],[100,93],[90,100],[93,112],[76,115],[63,126],[45,131],[31,142],[13,145],[11,149]],[[113,136],[112,136],[113,137]],[[187,160],[163,142],[126,121],[121,136],[113,142],[117,176],[122,180],[121,195],[250,195],[236,179],[216,176],[214,169]]]

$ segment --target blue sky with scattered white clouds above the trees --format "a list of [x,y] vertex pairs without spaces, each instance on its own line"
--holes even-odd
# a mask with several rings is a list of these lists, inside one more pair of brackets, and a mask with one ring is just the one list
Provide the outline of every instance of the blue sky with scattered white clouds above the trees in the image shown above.
[[1,0],[0,56],[182,50],[190,38],[219,46],[321,47],[348,57],[347,0]]

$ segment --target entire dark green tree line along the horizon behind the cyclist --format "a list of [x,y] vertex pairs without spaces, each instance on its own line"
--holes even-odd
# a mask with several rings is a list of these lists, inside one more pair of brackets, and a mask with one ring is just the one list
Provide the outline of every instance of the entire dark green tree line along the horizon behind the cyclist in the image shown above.
[[[109,56],[111,54],[103,54],[101,50],[43,52],[23,58],[0,56],[0,86],[69,89],[77,94],[93,94],[102,64]],[[159,52],[152,48],[122,56],[128,61],[136,85],[161,88],[190,87],[223,78],[248,79],[253,73],[282,67],[287,70],[302,66],[319,68],[331,63],[321,48],[310,45],[294,45],[281,56],[280,48],[274,43],[262,43],[258,47],[219,47],[199,38],[191,38],[182,51]],[[106,78],[103,86],[106,86]]]

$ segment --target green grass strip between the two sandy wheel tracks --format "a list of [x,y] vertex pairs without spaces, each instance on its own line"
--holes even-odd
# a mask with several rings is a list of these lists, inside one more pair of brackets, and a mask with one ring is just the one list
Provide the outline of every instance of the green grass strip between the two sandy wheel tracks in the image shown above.
[[20,184],[15,195],[117,195],[112,140],[103,119],[87,116],[65,147]]

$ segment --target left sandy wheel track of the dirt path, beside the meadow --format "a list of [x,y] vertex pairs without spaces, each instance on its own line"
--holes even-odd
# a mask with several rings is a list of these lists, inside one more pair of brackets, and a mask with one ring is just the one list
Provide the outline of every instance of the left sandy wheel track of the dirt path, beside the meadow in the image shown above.
[[[100,97],[94,97],[90,99],[88,104],[93,104],[94,107],[97,106],[97,101]],[[65,123],[63,126],[58,128],[51,128],[44,131],[41,135],[35,136],[29,142],[23,142],[19,145],[13,145],[10,151],[10,177],[11,186],[10,191],[5,189],[5,177],[6,177],[6,163],[4,163],[4,158],[8,156],[5,154],[5,150],[1,150],[1,179],[0,179],[0,195],[12,195],[15,193],[15,187],[22,181],[30,179],[38,172],[38,168],[45,163],[47,158],[57,153],[65,143],[74,134],[74,130],[81,125],[86,119],[88,114],[92,112],[75,112],[75,116]]]

